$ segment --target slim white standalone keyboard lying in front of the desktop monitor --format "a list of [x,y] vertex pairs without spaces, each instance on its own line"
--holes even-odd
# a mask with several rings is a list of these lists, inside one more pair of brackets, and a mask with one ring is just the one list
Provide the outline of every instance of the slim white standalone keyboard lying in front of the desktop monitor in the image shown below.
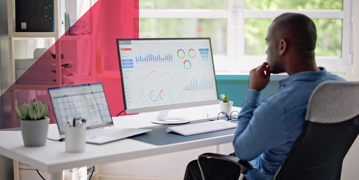
[[214,131],[221,131],[225,129],[236,128],[237,124],[226,120],[214,120],[209,122],[202,122],[196,124],[186,124],[167,128],[167,132],[176,132],[183,136],[191,136],[195,134],[202,134]]

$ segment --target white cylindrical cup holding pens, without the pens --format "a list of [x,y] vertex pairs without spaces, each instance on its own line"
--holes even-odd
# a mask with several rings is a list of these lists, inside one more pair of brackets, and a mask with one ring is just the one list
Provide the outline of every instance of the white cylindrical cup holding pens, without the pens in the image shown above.
[[65,146],[66,152],[84,152],[86,127],[66,127]]

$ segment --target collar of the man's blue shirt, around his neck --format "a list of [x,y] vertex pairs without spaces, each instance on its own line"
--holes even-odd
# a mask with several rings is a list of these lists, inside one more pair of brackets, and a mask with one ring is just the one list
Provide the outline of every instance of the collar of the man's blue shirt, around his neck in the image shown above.
[[319,67],[319,68],[321,71],[303,71],[303,72],[297,72],[295,74],[292,74],[287,79],[279,81],[279,87],[285,86],[293,81],[298,81],[298,80],[306,80],[306,81],[318,80],[327,74],[327,71],[325,70],[324,67]]

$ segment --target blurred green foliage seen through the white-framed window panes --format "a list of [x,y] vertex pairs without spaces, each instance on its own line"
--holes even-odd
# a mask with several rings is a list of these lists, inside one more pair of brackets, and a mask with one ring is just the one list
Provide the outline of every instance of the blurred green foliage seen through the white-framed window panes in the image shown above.
[[[342,0],[244,0],[246,9],[342,9]],[[226,0],[139,0],[144,9],[227,9]],[[179,18],[181,15],[179,14]],[[195,18],[195,17],[194,17]],[[246,19],[246,55],[266,55],[265,37],[273,19]],[[317,56],[341,56],[342,20],[313,19]],[[214,54],[227,52],[226,19],[140,19],[140,38],[210,37]],[[228,37],[231,38],[231,37]],[[232,46],[232,45],[230,45]]]

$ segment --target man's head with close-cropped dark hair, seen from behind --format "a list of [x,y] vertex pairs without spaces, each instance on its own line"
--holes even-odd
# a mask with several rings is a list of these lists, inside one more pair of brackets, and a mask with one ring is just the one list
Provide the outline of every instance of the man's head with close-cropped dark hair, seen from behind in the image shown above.
[[285,13],[268,28],[267,62],[273,74],[287,72],[289,67],[312,65],[317,31],[313,21],[303,14]]

